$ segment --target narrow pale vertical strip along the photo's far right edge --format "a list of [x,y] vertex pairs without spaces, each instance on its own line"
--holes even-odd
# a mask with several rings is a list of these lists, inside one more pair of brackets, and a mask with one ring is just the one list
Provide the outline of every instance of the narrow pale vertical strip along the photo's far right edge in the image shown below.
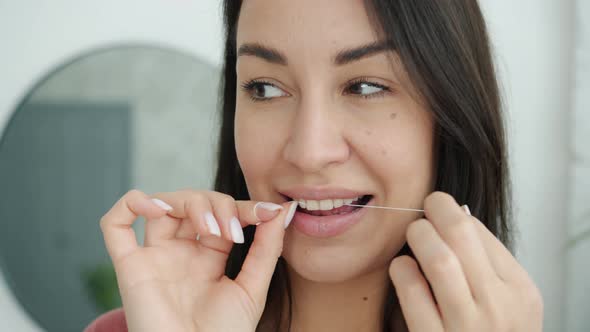
[[576,18],[565,319],[590,331],[590,2],[577,0]]

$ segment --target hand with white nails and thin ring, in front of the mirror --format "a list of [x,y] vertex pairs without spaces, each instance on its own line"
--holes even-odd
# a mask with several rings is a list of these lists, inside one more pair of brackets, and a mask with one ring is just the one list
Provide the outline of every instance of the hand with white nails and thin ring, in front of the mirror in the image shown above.
[[[125,194],[100,227],[129,331],[254,331],[296,206],[257,205],[212,191]],[[146,219],[143,246],[131,228],[139,216]],[[232,239],[242,242],[242,227],[259,222],[231,280],[224,272]]]

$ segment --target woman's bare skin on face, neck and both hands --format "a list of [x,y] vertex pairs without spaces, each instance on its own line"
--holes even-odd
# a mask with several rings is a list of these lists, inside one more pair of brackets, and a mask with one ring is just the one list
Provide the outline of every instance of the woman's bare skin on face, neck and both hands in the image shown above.
[[[238,86],[260,78],[276,86],[254,90],[276,97],[264,102],[237,91],[236,151],[252,201],[132,190],[103,216],[129,331],[254,331],[281,255],[292,281],[292,331],[380,331],[389,283],[412,332],[542,330],[542,299],[526,271],[451,196],[431,193],[432,118],[412,98],[395,54],[333,63],[342,50],[376,41],[362,13],[353,0],[244,1],[236,47],[257,43],[286,60],[242,52],[236,65]],[[388,91],[363,98],[358,92],[379,89],[347,89],[359,77]],[[294,206],[279,191],[301,184],[361,190],[377,205],[425,213],[371,210],[339,236],[312,239],[285,230]],[[265,210],[258,201],[280,206]],[[144,246],[132,229],[139,216],[147,221]],[[257,225],[255,238],[230,280],[232,239],[246,225]],[[394,258],[406,241],[416,259]]]

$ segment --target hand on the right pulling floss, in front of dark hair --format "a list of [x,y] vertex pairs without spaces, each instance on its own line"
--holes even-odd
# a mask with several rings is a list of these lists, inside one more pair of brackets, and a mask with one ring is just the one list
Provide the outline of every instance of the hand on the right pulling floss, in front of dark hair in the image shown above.
[[424,210],[407,229],[423,273],[408,256],[389,268],[409,330],[542,331],[540,292],[506,247],[447,194],[429,195]]

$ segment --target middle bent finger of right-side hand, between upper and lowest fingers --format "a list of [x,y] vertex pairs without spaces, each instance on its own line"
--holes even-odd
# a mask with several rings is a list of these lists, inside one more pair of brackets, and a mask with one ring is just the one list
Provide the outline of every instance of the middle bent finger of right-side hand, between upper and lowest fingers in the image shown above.
[[462,321],[473,314],[474,302],[461,264],[426,219],[408,226],[408,245],[430,282],[445,321]]

